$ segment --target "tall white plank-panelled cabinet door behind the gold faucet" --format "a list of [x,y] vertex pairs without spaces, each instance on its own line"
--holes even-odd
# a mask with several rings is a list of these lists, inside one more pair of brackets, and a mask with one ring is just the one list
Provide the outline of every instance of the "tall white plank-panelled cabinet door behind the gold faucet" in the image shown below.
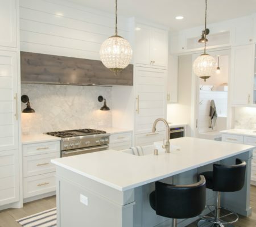
[[[136,67],[135,133],[149,133],[155,119],[166,118],[166,70]],[[157,131],[165,130],[159,123]]]

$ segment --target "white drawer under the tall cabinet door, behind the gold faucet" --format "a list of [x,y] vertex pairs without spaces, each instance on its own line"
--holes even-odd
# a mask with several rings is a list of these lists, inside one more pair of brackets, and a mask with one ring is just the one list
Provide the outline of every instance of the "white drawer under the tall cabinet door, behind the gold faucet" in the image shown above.
[[143,133],[135,136],[135,146],[151,145],[154,142],[166,140],[166,132]]

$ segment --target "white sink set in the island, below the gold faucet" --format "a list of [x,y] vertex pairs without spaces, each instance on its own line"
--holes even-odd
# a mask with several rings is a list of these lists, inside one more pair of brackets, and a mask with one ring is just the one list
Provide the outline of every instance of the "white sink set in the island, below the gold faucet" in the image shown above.
[[[121,150],[121,152],[137,155],[137,156],[144,156],[144,155],[154,155],[154,150],[158,149],[158,154],[164,154],[166,149],[162,148],[163,142],[154,142],[152,145],[147,146],[137,146],[134,149],[126,149]],[[179,146],[170,145],[170,153],[180,153],[181,148]]]

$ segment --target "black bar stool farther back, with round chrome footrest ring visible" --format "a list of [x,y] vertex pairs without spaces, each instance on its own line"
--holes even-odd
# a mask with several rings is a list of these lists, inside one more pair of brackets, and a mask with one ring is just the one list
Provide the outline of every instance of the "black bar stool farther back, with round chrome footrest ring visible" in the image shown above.
[[[224,225],[232,226],[238,220],[237,213],[229,209],[220,207],[220,192],[240,191],[245,183],[246,162],[236,159],[236,165],[224,166],[213,165],[213,171],[201,173],[207,180],[207,188],[216,191],[216,205],[207,206],[209,209],[208,216],[200,216],[201,220],[197,223],[199,227],[223,227]],[[213,211],[214,209],[214,211]],[[220,216],[220,209],[225,211],[225,215]],[[229,218],[225,220],[226,218]]]

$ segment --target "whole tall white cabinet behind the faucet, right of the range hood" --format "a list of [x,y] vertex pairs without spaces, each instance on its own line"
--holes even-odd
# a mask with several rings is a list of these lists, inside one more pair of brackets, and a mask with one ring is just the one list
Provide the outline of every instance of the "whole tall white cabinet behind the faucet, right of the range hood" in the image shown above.
[[166,137],[163,123],[152,125],[157,118],[166,119],[167,107],[167,30],[136,24],[135,35],[135,145],[150,145]]

